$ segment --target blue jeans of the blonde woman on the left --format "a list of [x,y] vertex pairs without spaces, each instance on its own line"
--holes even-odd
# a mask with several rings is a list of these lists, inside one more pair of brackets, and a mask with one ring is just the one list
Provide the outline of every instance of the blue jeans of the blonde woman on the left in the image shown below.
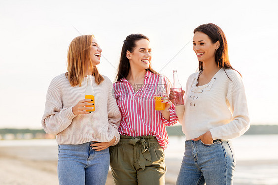
[[60,185],[105,185],[110,163],[109,149],[92,150],[90,142],[59,145]]

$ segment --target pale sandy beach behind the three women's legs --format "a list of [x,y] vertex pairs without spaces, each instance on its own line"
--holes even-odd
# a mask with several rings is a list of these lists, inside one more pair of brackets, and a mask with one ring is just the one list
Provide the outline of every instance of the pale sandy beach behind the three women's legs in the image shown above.
[[[59,185],[57,152],[58,146],[0,146],[0,185]],[[175,185],[182,156],[169,154],[165,185]],[[277,167],[278,160],[237,161],[234,185],[278,185]],[[106,185],[114,185],[111,171]]]

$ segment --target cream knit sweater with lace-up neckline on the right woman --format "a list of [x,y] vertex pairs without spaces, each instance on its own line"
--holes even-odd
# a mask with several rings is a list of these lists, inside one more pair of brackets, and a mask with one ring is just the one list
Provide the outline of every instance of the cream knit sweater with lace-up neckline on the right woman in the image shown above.
[[225,71],[221,68],[208,84],[198,87],[196,85],[200,72],[189,76],[182,121],[186,139],[197,138],[208,130],[213,140],[232,139],[249,129],[248,107],[241,76],[235,70]]

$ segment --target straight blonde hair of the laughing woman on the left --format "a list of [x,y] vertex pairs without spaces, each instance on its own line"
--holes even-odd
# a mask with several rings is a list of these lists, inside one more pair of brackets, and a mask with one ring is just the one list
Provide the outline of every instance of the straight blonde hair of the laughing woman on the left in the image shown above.
[[90,47],[94,35],[81,35],[72,40],[68,49],[66,77],[71,86],[81,86],[87,68],[93,69],[92,75],[95,83],[99,85],[104,78],[99,74],[96,66],[93,66],[90,58]]

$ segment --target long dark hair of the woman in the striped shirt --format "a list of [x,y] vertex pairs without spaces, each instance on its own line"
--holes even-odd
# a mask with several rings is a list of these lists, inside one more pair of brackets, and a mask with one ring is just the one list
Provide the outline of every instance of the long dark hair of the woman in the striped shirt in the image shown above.
[[[134,48],[136,47],[135,42],[140,39],[146,39],[149,41],[149,38],[147,36],[144,36],[143,34],[131,34],[127,36],[126,40],[124,40],[121,57],[120,57],[120,63],[118,67],[118,73],[116,75],[116,81],[119,81],[122,78],[128,76],[130,70],[130,63],[129,63],[129,59],[126,57],[126,53],[127,51],[133,52]],[[155,70],[152,69],[151,64],[149,64],[149,68],[146,69],[146,71],[150,71],[152,73],[158,74]]]

